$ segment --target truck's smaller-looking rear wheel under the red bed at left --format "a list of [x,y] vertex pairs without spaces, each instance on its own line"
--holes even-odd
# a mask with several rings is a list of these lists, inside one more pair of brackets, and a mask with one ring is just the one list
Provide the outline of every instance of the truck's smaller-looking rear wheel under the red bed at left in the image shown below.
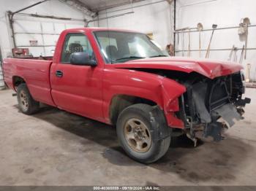
[[34,114],[39,109],[39,102],[35,101],[26,84],[20,84],[17,87],[17,98],[20,112],[23,114]]

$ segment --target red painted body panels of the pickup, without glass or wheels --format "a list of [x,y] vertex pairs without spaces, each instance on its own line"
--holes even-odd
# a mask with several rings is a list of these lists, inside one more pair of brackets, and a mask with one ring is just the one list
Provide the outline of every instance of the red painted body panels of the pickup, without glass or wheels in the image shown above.
[[[235,63],[187,58],[145,58],[106,64],[92,34],[99,30],[107,29],[78,28],[63,31],[53,61],[4,59],[5,82],[15,89],[13,77],[21,77],[35,100],[109,124],[110,104],[114,96],[121,94],[146,98],[164,110],[170,127],[183,128],[183,122],[176,118],[174,112],[179,109],[177,98],[186,88],[172,79],[132,69],[169,69],[186,73],[195,71],[211,79],[242,69]],[[97,58],[96,67],[59,63],[64,38],[69,33],[86,34]],[[63,71],[62,78],[56,77],[57,70]]]

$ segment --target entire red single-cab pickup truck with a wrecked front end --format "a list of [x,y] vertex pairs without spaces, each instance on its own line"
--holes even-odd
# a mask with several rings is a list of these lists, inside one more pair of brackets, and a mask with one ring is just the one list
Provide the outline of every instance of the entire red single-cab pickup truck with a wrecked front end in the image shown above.
[[[43,60],[42,60],[43,59]],[[127,155],[152,163],[172,136],[222,139],[249,98],[242,66],[165,55],[148,36],[110,28],[63,31],[53,58],[4,59],[20,111],[39,102],[116,125]]]

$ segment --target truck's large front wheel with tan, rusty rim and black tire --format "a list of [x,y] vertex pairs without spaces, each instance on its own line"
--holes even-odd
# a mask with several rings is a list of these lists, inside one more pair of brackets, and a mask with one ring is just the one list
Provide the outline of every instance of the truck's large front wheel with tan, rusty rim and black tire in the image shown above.
[[170,128],[157,106],[135,104],[124,109],[116,123],[118,141],[129,157],[153,163],[170,146]]

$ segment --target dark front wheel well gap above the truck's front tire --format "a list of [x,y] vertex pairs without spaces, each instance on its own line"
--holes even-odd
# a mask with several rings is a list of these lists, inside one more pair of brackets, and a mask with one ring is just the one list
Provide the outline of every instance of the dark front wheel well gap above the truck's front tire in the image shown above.
[[148,104],[150,106],[156,106],[157,103],[148,100],[146,98],[140,98],[131,95],[116,95],[112,98],[110,104],[110,121],[113,125],[116,125],[118,115],[128,106],[133,104]]

